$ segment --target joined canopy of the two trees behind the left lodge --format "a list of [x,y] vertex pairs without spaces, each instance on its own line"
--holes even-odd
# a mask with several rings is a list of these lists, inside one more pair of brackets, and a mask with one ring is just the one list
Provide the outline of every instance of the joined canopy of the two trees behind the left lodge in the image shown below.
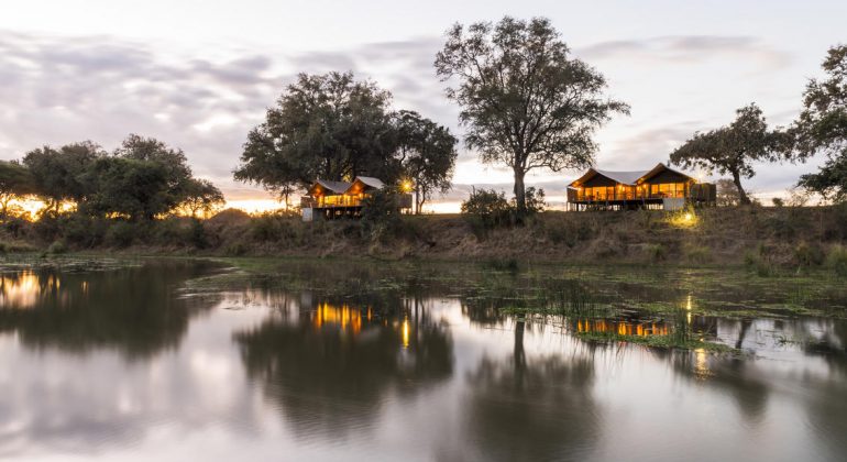
[[258,184],[286,204],[317,178],[411,179],[422,205],[448,187],[457,141],[417,112],[392,111],[391,100],[352,73],[300,74],[248,134],[235,179]]

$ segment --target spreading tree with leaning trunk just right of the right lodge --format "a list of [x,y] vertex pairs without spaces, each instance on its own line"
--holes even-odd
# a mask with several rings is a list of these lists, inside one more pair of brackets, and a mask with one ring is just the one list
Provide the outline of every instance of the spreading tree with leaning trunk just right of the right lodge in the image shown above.
[[741,186],[741,178],[751,178],[757,161],[776,162],[781,158],[781,136],[768,131],[761,109],[751,103],[736,110],[736,119],[728,127],[706,133],[694,133],[685,144],[671,153],[671,164],[683,168],[702,168],[733,176],[738,200],[749,205],[750,198]]

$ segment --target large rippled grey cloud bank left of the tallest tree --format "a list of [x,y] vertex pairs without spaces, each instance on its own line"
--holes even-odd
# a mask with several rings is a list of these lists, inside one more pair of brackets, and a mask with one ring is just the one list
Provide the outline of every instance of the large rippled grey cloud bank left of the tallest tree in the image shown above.
[[46,37],[0,31],[0,158],[43,144],[94,140],[107,148],[129,133],[185,150],[195,173],[226,194],[258,189],[232,180],[246,133],[298,73],[353,70],[442,124],[457,120],[425,37],[341,52],[232,50],[235,59],[154,48],[108,36]]

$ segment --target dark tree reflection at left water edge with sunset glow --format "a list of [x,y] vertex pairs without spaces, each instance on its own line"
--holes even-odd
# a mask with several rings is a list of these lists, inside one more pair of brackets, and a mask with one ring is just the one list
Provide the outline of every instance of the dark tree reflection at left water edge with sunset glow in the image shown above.
[[111,348],[129,358],[150,356],[176,346],[189,317],[211,306],[174,296],[179,284],[202,273],[200,265],[174,263],[7,275],[0,285],[0,332],[14,331],[34,349],[82,353]]

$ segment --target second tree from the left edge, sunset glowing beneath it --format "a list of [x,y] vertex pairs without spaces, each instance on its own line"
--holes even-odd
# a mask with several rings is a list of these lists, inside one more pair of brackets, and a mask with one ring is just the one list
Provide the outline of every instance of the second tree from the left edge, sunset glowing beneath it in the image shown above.
[[44,146],[26,153],[23,165],[33,177],[34,191],[47,202],[47,210],[57,213],[65,201],[81,202],[90,193],[86,172],[106,155],[99,145],[85,141],[58,150]]

